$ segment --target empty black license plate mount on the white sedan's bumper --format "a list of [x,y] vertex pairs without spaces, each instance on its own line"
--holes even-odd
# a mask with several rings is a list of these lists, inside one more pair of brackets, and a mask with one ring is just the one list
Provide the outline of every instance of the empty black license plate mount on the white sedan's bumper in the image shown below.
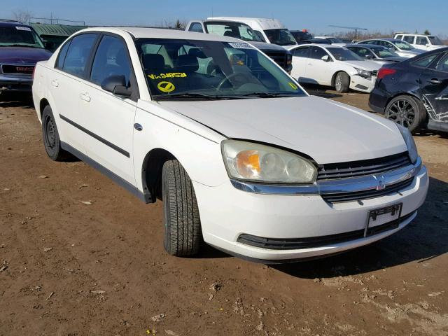
[[377,227],[377,229],[379,229],[380,225],[387,226],[387,228],[384,228],[385,230],[398,228],[398,225],[400,225],[402,205],[402,203],[397,203],[389,205],[388,207],[370,210],[367,214],[367,223],[365,225],[364,237],[374,235],[374,232],[379,233],[379,230],[369,229]]

